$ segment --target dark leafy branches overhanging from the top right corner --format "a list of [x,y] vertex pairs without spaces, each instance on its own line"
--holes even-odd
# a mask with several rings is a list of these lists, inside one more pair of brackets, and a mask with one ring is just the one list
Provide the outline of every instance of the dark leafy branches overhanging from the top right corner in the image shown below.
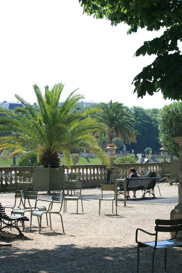
[[155,60],[134,77],[133,92],[138,97],[159,90],[164,99],[182,99],[182,55],[178,42],[182,41],[181,0],[79,0],[83,12],[96,19],[106,17],[111,25],[128,24],[128,34],[146,27],[148,31],[165,27],[164,34],[145,41],[135,56],[156,55]]

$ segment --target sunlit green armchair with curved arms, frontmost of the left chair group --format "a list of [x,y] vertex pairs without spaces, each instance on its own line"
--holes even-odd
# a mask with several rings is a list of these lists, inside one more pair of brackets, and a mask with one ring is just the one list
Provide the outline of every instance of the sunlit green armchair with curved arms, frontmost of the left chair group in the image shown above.
[[[62,220],[62,215],[60,213],[61,209],[62,209],[62,205],[63,205],[63,198],[64,198],[64,193],[57,193],[57,192],[53,192],[53,196],[52,196],[52,201],[50,200],[42,200],[42,199],[38,199],[36,201],[35,206],[37,205],[38,201],[44,201],[44,202],[49,202],[49,208],[46,211],[40,211],[40,210],[34,210],[31,212],[31,219],[30,219],[30,231],[31,231],[31,222],[32,222],[32,216],[37,216],[38,219],[38,225],[39,225],[39,233],[41,230],[41,222],[42,222],[42,215],[46,214],[46,218],[47,218],[47,214],[49,214],[49,218],[50,218],[50,227],[52,230],[52,225],[51,225],[51,213],[53,214],[59,214],[61,217],[61,223],[62,223],[62,229],[63,229],[63,233],[64,233],[64,227],[63,227],[63,220]],[[58,211],[54,211],[53,210],[53,205],[55,203],[59,203],[60,204],[60,208]],[[40,222],[39,222],[39,218],[40,218]],[[48,222],[47,222],[48,225]]]

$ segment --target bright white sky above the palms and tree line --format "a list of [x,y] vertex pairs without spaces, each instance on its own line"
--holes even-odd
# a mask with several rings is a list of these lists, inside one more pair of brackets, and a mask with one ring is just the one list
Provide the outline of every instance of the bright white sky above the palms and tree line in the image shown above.
[[139,29],[127,35],[128,25],[112,27],[106,19],[82,14],[78,0],[2,0],[0,2],[0,101],[18,94],[36,102],[32,85],[64,83],[60,102],[79,89],[86,101],[118,101],[143,108],[161,108],[161,92],[137,99],[133,78],[154,56],[133,57],[146,40],[164,29]]

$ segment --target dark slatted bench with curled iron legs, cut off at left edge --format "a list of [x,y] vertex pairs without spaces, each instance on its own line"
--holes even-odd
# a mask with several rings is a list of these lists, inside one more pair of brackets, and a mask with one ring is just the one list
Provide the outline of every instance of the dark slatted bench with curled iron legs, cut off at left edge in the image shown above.
[[[21,230],[18,227],[18,222],[23,223],[24,221],[29,221],[29,218],[26,216],[8,216],[6,215],[3,206],[0,203],[0,232],[2,229],[10,226],[10,228],[14,227],[19,231],[19,235],[23,235]],[[2,227],[2,224],[5,224],[5,226]]]

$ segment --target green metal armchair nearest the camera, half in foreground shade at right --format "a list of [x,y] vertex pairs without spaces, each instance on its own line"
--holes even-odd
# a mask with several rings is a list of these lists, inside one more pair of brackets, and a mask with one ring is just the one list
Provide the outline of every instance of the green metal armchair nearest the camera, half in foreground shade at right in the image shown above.
[[[152,273],[154,270],[154,254],[155,250],[157,248],[164,248],[164,270],[166,270],[166,250],[167,248],[171,247],[181,247],[182,243],[179,244],[177,242],[172,241],[176,238],[178,231],[182,230],[182,219],[177,220],[155,220],[155,233],[149,233],[147,231],[144,231],[143,229],[137,229],[136,230],[136,243],[138,244],[137,249],[137,273],[139,272],[139,250],[141,247],[150,247],[153,249],[152,251]],[[142,231],[148,235],[155,236],[154,242],[138,242],[138,231]],[[171,239],[163,240],[163,241],[157,241],[157,235],[158,232],[175,232],[175,235]],[[170,261],[171,263],[171,261]]]

